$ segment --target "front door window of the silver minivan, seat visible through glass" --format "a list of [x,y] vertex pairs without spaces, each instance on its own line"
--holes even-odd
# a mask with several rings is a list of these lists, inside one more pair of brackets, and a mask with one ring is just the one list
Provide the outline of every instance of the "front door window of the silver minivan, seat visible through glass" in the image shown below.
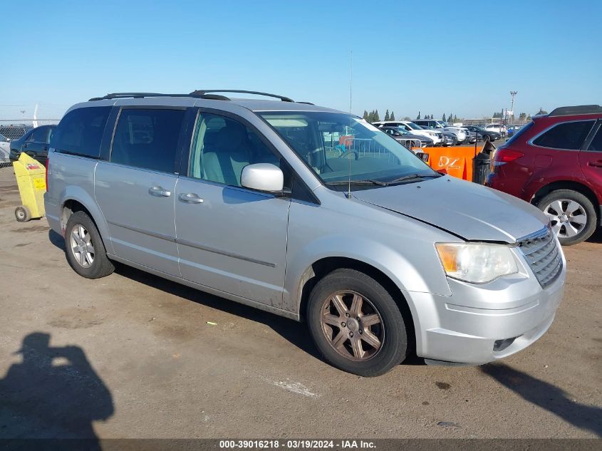
[[239,187],[243,168],[255,163],[280,167],[279,157],[249,127],[225,116],[199,113],[189,177]]

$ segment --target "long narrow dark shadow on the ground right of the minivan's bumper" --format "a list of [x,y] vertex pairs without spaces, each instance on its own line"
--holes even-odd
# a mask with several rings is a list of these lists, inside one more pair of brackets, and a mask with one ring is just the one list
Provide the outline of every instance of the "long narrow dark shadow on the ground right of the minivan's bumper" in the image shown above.
[[540,408],[579,429],[602,437],[602,408],[576,403],[561,388],[515,370],[503,363],[480,367],[481,371]]

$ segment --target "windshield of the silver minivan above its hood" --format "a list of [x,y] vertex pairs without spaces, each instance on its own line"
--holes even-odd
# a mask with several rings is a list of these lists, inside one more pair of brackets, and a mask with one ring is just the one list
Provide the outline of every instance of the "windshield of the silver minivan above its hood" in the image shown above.
[[260,112],[322,182],[352,190],[438,177],[413,152],[373,125],[344,113]]

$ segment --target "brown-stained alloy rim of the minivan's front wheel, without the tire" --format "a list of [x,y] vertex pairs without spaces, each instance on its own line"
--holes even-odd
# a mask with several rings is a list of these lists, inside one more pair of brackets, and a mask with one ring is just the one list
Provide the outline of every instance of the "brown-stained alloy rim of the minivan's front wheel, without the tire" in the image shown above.
[[380,313],[354,291],[338,291],[323,302],[321,326],[328,344],[351,361],[368,361],[383,347]]

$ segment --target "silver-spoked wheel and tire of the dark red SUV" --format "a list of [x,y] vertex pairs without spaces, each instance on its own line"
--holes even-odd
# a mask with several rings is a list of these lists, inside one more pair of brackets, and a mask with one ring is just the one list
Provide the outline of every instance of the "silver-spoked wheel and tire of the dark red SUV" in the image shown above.
[[580,192],[557,190],[537,206],[549,217],[552,229],[564,246],[581,243],[596,230],[598,217],[591,200]]

